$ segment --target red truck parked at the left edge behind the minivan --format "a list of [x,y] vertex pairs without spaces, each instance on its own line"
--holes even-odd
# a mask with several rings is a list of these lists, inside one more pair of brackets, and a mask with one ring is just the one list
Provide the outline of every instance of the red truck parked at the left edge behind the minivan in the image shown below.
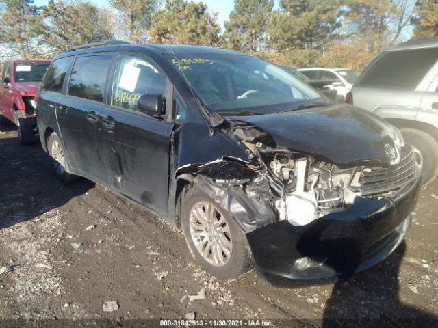
[[50,63],[47,60],[11,60],[6,61],[1,70],[0,125],[16,124],[23,145],[36,141],[34,97]]

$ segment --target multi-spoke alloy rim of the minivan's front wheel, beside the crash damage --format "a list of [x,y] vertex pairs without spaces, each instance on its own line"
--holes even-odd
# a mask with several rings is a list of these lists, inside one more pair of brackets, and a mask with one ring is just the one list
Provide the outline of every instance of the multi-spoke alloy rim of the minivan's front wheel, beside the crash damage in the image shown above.
[[199,254],[209,264],[223,267],[231,258],[233,243],[227,221],[209,202],[198,202],[190,210],[190,235]]

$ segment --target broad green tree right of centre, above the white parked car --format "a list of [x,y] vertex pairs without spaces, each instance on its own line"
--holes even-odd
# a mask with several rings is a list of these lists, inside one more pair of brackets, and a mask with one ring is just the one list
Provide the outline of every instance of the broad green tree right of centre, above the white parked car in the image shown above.
[[276,49],[315,48],[335,38],[339,0],[280,0],[268,27]]

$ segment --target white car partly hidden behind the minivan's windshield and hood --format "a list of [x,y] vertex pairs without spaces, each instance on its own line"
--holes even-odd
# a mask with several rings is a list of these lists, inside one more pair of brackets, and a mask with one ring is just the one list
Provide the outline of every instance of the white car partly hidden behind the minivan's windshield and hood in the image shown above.
[[320,66],[298,68],[298,71],[305,74],[312,81],[321,81],[330,89],[336,90],[339,96],[345,99],[347,92],[355,84],[358,74],[351,68],[337,66]]

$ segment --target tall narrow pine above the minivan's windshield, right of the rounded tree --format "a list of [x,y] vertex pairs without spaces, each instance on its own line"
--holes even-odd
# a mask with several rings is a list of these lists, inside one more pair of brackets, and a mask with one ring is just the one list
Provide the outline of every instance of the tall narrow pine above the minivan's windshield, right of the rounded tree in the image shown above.
[[266,45],[266,26],[274,0],[235,0],[225,22],[222,44],[230,49],[259,51]]

